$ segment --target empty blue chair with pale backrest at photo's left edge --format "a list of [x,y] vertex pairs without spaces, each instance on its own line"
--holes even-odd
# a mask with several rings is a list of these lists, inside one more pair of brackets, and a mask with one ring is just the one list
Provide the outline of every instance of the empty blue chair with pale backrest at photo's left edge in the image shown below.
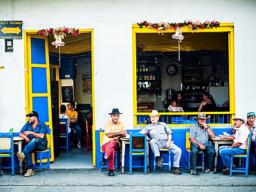
[[[10,157],[11,166],[0,166],[1,169],[12,169],[12,175],[15,175],[15,152],[13,146],[13,134],[1,133],[0,134],[0,158]],[[2,161],[1,161],[2,162]]]

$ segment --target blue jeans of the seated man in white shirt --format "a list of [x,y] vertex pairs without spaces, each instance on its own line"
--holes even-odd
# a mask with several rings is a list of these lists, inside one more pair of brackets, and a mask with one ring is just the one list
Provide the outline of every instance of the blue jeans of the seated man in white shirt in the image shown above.
[[241,148],[228,148],[229,146],[220,146],[219,147],[219,155],[221,155],[221,159],[223,165],[225,167],[230,167],[231,155],[244,155],[246,154],[245,149]]

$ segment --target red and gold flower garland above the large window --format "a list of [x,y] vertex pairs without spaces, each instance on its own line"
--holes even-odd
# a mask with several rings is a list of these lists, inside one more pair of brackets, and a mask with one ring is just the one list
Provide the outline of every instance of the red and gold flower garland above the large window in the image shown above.
[[219,27],[219,21],[209,21],[206,20],[204,23],[201,23],[201,21],[190,21],[190,19],[187,19],[184,21],[184,23],[168,23],[161,21],[160,23],[148,23],[147,21],[141,21],[140,23],[137,23],[140,28],[143,28],[143,26],[146,26],[149,29],[156,29],[158,31],[158,34],[164,35],[164,30],[170,30],[170,29],[176,29],[176,28],[182,28],[184,26],[188,26],[190,30],[201,30],[205,28],[217,28]]

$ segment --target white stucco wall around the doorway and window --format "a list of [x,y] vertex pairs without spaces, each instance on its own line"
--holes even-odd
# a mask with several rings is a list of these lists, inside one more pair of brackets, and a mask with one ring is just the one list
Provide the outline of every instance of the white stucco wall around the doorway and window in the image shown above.
[[[12,3],[13,12],[12,12]],[[1,0],[0,20],[24,21],[24,30],[57,26],[93,28],[96,128],[104,127],[112,108],[133,127],[131,26],[147,19],[159,22],[218,20],[235,25],[235,97],[241,115],[256,111],[254,95],[256,1],[38,1]],[[0,39],[0,132],[25,123],[24,39],[4,52]],[[250,102],[248,102],[250,101]]]

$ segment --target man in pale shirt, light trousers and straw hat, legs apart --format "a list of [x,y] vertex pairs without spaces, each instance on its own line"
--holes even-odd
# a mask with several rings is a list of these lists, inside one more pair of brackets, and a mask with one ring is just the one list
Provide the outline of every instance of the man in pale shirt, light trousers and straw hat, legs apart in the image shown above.
[[174,153],[174,165],[171,173],[181,175],[181,171],[179,171],[181,148],[172,142],[172,131],[167,124],[158,122],[160,117],[160,115],[158,115],[158,111],[153,110],[149,117],[152,124],[143,128],[140,133],[149,133],[149,136],[151,137],[149,144],[156,157],[157,166],[161,167],[163,164],[163,158],[160,156],[159,148],[168,148],[172,153]]

